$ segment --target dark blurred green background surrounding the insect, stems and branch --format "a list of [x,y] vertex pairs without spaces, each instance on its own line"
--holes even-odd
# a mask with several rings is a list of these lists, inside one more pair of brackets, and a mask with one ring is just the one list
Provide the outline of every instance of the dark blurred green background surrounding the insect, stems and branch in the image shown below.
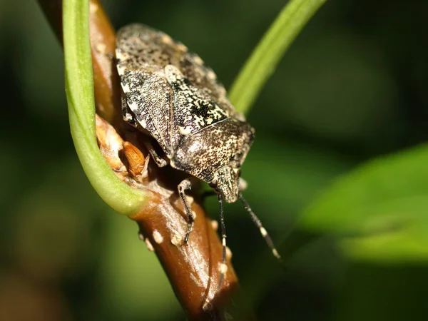
[[[103,4],[228,88],[285,1]],[[427,1],[329,0],[253,106],[245,195],[287,271],[240,204],[225,215],[260,320],[428,320],[427,29]],[[0,320],[185,320],[136,224],[81,170],[62,59],[36,1],[0,0]]]

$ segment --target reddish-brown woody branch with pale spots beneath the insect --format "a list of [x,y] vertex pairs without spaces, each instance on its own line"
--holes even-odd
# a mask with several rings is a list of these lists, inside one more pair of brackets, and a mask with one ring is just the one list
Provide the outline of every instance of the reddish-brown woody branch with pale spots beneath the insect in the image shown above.
[[[39,0],[47,19],[61,40],[61,0]],[[177,245],[185,234],[186,220],[176,193],[180,178],[171,168],[158,168],[141,148],[141,133],[127,126],[120,116],[120,87],[113,54],[116,38],[108,17],[98,0],[90,1],[93,81],[96,98],[98,144],[122,180],[134,188],[150,191],[148,206],[133,216],[141,238],[158,255],[175,295],[190,320],[255,320],[253,312],[237,305],[238,278],[228,258],[228,272],[218,290],[222,260],[215,221],[210,221],[195,198],[193,232],[187,245]],[[111,125],[110,125],[111,124]],[[120,146],[119,148],[115,146]],[[116,149],[115,149],[116,148]],[[208,302],[210,312],[203,311]],[[233,304],[232,304],[233,302]]]

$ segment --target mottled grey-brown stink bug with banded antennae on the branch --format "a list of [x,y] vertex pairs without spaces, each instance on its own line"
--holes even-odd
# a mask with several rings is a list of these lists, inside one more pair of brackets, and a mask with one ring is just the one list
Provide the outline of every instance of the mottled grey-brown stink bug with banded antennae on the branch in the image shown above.
[[[123,91],[123,118],[148,135],[145,144],[153,160],[160,167],[170,165],[208,182],[218,195],[223,241],[219,287],[226,272],[223,200],[243,202],[272,253],[280,258],[241,193],[240,167],[253,143],[254,129],[228,101],[213,70],[180,42],[142,24],[118,31],[116,63]],[[191,187],[189,178],[178,184],[188,217],[183,244],[188,242],[194,221],[185,195]]]

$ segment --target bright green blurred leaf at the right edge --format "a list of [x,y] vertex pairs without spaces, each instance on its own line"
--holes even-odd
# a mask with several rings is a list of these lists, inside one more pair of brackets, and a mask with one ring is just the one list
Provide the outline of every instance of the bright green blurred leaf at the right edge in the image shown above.
[[300,224],[337,234],[352,258],[428,261],[427,164],[423,145],[361,165],[322,193]]

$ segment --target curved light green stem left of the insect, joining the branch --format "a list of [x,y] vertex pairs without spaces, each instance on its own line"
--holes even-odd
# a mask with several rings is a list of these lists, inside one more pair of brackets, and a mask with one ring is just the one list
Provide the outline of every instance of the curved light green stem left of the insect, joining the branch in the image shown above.
[[66,95],[74,146],[93,188],[118,213],[138,213],[146,201],[143,190],[130,188],[119,180],[98,148],[88,0],[63,1],[63,46]]

